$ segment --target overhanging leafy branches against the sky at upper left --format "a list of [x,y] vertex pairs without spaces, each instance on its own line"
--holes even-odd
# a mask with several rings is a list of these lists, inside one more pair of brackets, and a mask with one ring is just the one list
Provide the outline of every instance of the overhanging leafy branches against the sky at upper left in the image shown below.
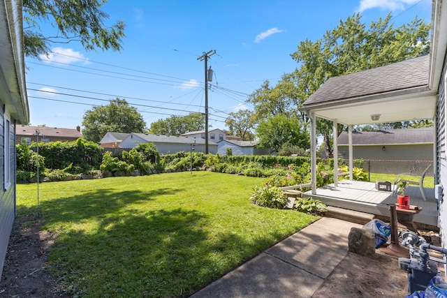
[[[24,52],[38,58],[50,52],[50,44],[79,41],[86,50],[121,50],[125,24],[109,25],[108,14],[101,10],[107,0],[23,0]],[[45,36],[42,23],[57,29]]]

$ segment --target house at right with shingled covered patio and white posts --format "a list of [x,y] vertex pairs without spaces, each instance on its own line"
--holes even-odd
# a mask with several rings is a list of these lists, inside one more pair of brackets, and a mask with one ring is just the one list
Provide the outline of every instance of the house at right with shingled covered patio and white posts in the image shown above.
[[[311,168],[316,169],[316,117],[352,127],[360,124],[434,119],[434,184],[439,185],[438,223],[447,247],[447,0],[432,1],[430,55],[359,73],[331,77],[303,103],[311,121]],[[337,149],[335,138],[334,149]],[[349,150],[353,149],[349,142]],[[337,152],[335,152],[337,164]],[[349,156],[350,170],[353,158]],[[337,177],[337,168],[334,169]],[[352,179],[352,174],[350,174]],[[335,179],[337,186],[337,179]],[[312,171],[316,194],[316,171]]]

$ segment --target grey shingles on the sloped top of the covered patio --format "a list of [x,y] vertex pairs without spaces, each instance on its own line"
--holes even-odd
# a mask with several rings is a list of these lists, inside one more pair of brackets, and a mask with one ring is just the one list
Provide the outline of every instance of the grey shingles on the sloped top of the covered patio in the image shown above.
[[303,105],[307,107],[335,100],[427,87],[429,64],[430,55],[425,55],[358,73],[330,77]]

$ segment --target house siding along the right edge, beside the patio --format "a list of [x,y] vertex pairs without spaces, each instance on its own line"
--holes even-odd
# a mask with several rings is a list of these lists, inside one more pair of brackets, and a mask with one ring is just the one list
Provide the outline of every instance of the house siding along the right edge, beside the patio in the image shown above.
[[437,179],[435,184],[441,184],[444,188],[442,194],[442,200],[439,201],[439,218],[438,225],[441,228],[441,244],[443,247],[447,247],[447,160],[446,160],[446,71],[447,64],[444,61],[444,70],[441,75],[441,84],[439,86],[439,98],[437,101],[437,149],[436,149],[436,164],[437,164]]

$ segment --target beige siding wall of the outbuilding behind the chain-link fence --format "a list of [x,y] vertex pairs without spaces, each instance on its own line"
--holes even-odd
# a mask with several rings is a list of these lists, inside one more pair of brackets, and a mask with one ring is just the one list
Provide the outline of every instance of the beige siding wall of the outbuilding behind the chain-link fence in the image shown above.
[[[385,147],[385,151],[382,150]],[[348,146],[339,145],[339,158],[348,158]],[[353,145],[353,158],[386,161],[433,161],[433,144]]]

